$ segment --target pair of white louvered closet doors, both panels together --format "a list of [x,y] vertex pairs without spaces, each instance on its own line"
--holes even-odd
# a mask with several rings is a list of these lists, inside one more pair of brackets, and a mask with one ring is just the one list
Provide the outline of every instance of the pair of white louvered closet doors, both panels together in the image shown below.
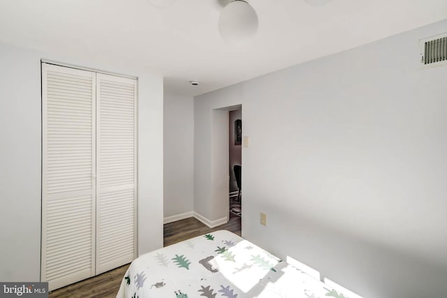
[[42,78],[41,280],[54,290],[136,257],[136,80],[50,64]]

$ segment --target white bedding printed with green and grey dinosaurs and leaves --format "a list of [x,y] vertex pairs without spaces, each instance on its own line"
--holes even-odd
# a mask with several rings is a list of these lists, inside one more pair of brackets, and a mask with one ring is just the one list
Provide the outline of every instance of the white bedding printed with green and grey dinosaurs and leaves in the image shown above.
[[117,298],[347,298],[241,237],[221,230],[141,255]]

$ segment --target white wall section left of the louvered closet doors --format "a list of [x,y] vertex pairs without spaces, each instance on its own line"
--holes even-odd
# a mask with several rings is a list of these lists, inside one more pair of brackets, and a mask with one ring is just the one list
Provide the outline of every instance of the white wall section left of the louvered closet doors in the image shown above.
[[39,281],[41,63],[0,45],[0,280]]

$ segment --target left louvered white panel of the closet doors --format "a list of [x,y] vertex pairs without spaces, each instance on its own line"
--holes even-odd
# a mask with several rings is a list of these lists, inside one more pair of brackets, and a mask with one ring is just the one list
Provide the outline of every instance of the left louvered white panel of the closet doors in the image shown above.
[[50,290],[95,273],[96,74],[42,64],[42,266]]

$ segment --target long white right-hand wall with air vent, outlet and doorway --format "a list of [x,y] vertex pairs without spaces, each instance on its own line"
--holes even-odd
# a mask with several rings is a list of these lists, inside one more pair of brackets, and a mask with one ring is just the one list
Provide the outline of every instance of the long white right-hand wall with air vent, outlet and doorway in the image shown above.
[[212,110],[242,103],[244,237],[364,297],[445,297],[447,66],[418,62],[418,40],[445,31],[447,20],[198,96],[195,206],[217,187]]

